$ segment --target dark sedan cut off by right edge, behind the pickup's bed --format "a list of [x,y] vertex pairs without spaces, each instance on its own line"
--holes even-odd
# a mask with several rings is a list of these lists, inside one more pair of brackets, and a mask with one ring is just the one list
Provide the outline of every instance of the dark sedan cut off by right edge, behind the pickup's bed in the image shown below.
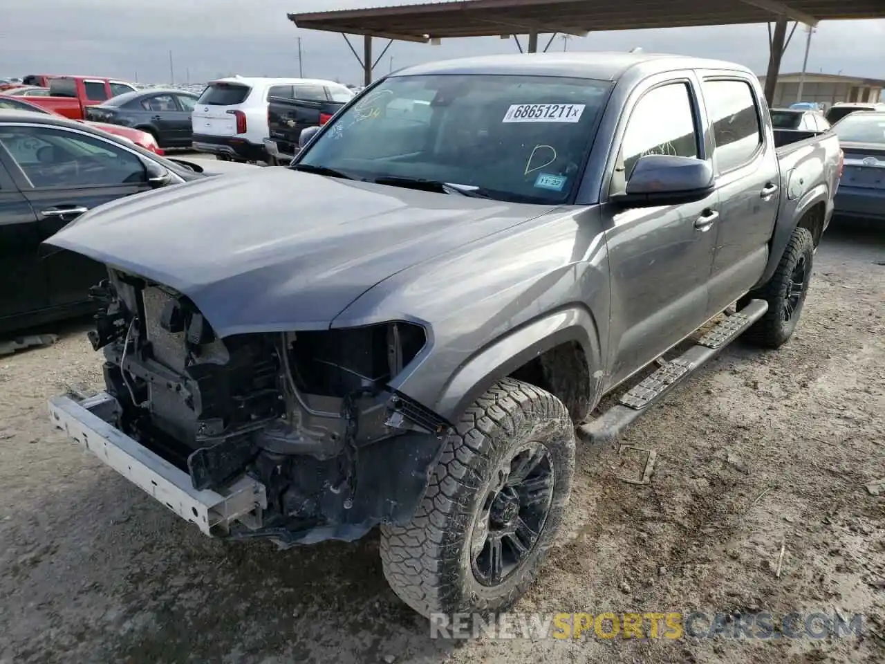
[[836,215],[885,220],[885,112],[851,113],[833,131],[845,153]]

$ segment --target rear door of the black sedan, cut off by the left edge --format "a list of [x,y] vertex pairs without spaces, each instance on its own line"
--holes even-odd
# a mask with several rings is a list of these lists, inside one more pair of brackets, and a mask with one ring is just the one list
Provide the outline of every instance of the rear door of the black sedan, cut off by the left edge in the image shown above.
[[6,170],[9,161],[0,144],[0,333],[12,328],[12,316],[49,306],[37,218]]

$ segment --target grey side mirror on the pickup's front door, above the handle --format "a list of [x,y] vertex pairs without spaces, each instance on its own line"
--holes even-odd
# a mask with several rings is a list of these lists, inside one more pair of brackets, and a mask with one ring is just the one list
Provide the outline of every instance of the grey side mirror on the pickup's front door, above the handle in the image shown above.
[[715,184],[709,161],[650,154],[636,160],[627,189],[612,196],[612,203],[625,207],[694,203],[710,196]]

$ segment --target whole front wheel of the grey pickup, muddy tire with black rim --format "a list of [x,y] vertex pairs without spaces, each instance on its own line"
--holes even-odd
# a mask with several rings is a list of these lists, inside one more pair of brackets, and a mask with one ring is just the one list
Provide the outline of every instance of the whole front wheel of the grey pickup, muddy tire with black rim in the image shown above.
[[[427,617],[489,614],[512,606],[546,559],[572,487],[573,423],[566,406],[550,393],[515,379],[501,380],[466,410],[456,429],[444,445],[412,522],[381,527],[381,562],[388,583],[406,604]],[[524,467],[535,459],[541,460],[535,461],[534,470],[526,471],[525,483],[518,484]],[[504,522],[505,513],[513,514],[507,501],[523,495],[519,487],[540,487],[539,478],[548,469],[552,486],[543,498],[547,506],[543,519],[536,518],[535,510],[541,494],[526,493],[532,498],[521,503],[517,498],[517,509],[526,511],[507,522],[521,524],[515,527],[519,536],[502,540],[496,533],[503,531],[489,524],[510,528]],[[516,489],[508,490],[508,482]],[[500,488],[497,493],[496,488]],[[528,512],[529,507],[535,511]],[[506,575],[499,575],[497,583],[494,563],[483,567],[495,560],[494,541],[504,543],[496,547],[499,570],[507,555],[522,556]],[[477,555],[482,542],[486,547]],[[481,575],[479,570],[486,567],[492,571]]]

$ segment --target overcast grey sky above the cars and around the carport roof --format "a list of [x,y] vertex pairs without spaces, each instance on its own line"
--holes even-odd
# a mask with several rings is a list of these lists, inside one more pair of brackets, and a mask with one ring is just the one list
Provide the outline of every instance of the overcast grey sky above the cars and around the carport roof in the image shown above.
[[[412,0],[414,2],[414,0]],[[729,0],[730,1],[730,0]],[[846,0],[850,2],[850,0]],[[296,37],[302,38],[304,75],[362,82],[341,35],[295,27],[287,12],[318,12],[397,0],[0,0],[0,76],[83,73],[130,81],[168,82],[169,50],[175,82],[202,82],[239,73],[298,74]],[[781,72],[802,68],[804,34],[794,35]],[[569,50],[675,52],[734,60],[764,73],[765,24],[593,33],[571,39]],[[359,49],[359,38],[354,42]],[[523,38],[525,42],[525,38]],[[547,38],[539,40],[543,47]],[[377,40],[376,54],[383,43]],[[557,39],[551,50],[562,50]],[[361,51],[359,51],[361,52]],[[376,73],[427,60],[516,52],[499,38],[443,40],[439,46],[394,42]],[[885,79],[885,20],[831,21],[812,39],[808,71]]]

